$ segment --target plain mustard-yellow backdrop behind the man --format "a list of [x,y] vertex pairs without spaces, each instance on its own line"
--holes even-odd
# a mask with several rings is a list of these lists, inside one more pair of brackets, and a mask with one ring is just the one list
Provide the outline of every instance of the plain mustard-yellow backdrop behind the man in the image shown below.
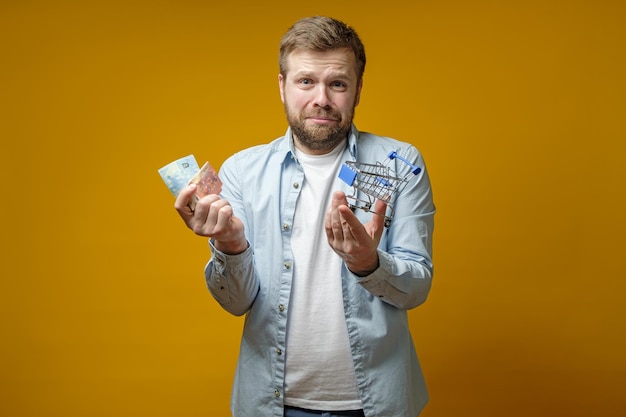
[[229,415],[242,319],[157,169],[282,135],[278,40],[313,14],[366,45],[357,126],[432,176],[423,416],[626,414],[625,12],[2,1],[0,415]]

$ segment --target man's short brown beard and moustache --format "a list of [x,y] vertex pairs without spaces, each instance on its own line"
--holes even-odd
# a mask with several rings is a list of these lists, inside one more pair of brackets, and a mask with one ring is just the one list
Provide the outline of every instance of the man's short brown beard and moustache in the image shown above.
[[[345,119],[340,113],[323,108],[297,114],[289,110],[286,102],[285,113],[287,114],[287,122],[291,127],[294,139],[300,145],[311,151],[330,152],[348,137],[354,118],[354,107]],[[306,118],[315,116],[332,118],[337,120],[337,123],[332,126],[307,125]]]

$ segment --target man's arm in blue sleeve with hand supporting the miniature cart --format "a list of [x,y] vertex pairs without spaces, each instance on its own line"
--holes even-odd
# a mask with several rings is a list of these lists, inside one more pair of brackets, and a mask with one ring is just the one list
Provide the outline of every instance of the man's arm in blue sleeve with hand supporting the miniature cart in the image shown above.
[[[426,300],[433,276],[435,207],[425,169],[398,196],[394,209],[388,229],[378,214],[361,224],[345,194],[336,192],[326,215],[326,234],[360,285],[384,302],[410,309]],[[384,203],[377,201],[374,211],[384,213]]]

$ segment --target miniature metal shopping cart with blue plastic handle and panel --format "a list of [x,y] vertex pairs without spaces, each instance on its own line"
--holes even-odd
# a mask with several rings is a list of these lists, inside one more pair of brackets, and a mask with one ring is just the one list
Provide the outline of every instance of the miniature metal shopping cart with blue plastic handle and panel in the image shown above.
[[[390,165],[394,159],[407,165],[407,169],[402,170],[403,172],[406,171],[406,174],[402,175],[391,169]],[[385,227],[389,227],[394,215],[392,202],[394,195],[400,193],[412,176],[416,176],[421,171],[421,168],[402,158],[396,151],[391,151],[384,163],[366,164],[364,162],[346,161],[341,166],[339,178],[353,187],[353,194],[347,196],[352,210],[361,209],[384,216]],[[359,191],[362,191],[365,196],[359,197]],[[377,199],[387,203],[389,214],[387,211],[377,213],[372,209]]]

